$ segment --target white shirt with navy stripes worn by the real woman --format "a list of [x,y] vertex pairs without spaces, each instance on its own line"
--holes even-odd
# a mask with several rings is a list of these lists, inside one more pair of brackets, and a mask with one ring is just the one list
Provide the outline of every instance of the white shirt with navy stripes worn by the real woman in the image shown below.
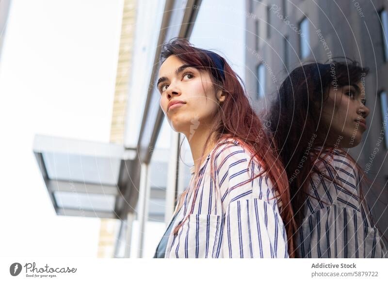
[[[275,189],[259,163],[237,140],[226,139],[200,165],[194,211],[170,233],[165,258],[287,258],[287,235]],[[216,183],[210,180],[214,155]],[[174,228],[189,214],[194,200],[194,168]],[[242,186],[240,184],[246,182]],[[271,199],[272,198],[272,199]]]

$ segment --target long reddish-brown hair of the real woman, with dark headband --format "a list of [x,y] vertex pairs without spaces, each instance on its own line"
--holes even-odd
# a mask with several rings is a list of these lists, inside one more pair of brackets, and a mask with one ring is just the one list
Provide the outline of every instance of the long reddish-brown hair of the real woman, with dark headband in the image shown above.
[[[290,204],[291,200],[287,175],[284,173],[281,161],[275,157],[270,144],[270,139],[266,135],[266,130],[263,128],[259,117],[249,103],[242,79],[232,70],[222,56],[209,50],[194,47],[186,39],[173,38],[170,42],[163,45],[161,62],[164,62],[164,60],[171,55],[177,56],[179,60],[188,63],[193,67],[208,71],[215,87],[215,93],[221,90],[226,94],[225,100],[222,103],[219,103],[219,110],[215,113],[213,119],[214,123],[210,131],[212,134],[208,136],[205,142],[202,159],[205,157],[204,153],[210,142],[217,143],[215,149],[213,149],[213,153],[215,153],[217,148],[222,145],[219,141],[228,138],[238,140],[245,149],[253,153],[252,158],[255,157],[259,161],[263,168],[262,173],[267,173],[274,185],[275,194],[278,196],[280,216],[286,228],[289,255],[290,257],[293,257],[294,243],[292,234],[296,230],[296,224],[293,219],[293,212]],[[216,56],[218,63],[214,62],[214,56]],[[220,69],[220,60],[223,69]],[[202,163],[202,159],[200,163]],[[212,154],[210,159],[210,173],[212,181],[215,182],[213,159],[214,154]],[[259,177],[262,173],[254,176],[252,179]],[[198,173],[195,173],[195,178],[193,180],[194,197],[196,195],[195,190],[197,189],[197,178]],[[252,179],[247,182],[250,182]],[[241,185],[243,184],[245,183],[242,183]],[[191,186],[193,186],[193,184]],[[186,192],[187,190],[182,193],[178,205],[183,203],[183,197]],[[194,203],[195,198],[189,215],[193,212]],[[176,208],[175,211],[177,212],[178,208]],[[174,229],[174,234],[177,234],[178,229],[188,216]]]

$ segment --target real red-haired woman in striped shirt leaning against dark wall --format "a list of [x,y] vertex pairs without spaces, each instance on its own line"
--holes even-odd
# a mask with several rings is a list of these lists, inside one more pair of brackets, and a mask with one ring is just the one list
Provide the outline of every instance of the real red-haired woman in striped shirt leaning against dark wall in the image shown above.
[[160,106],[186,136],[194,167],[154,257],[288,257],[287,178],[238,76],[184,39],[166,44],[161,59]]

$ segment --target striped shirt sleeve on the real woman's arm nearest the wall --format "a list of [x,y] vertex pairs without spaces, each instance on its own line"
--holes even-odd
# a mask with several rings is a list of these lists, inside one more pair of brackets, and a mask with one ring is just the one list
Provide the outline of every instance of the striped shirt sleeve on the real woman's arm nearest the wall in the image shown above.
[[[240,145],[226,144],[216,159],[223,208],[222,249],[229,258],[287,258],[287,235],[274,189]],[[254,174],[252,173],[254,172]]]

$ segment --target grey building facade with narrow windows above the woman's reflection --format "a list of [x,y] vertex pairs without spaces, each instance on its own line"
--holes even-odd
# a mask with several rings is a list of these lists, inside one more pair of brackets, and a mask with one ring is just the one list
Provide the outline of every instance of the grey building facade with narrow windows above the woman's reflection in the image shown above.
[[[367,106],[371,109],[367,119],[369,129],[364,134],[365,142],[350,152],[355,157],[359,156],[358,162],[363,169],[371,165],[372,169],[367,175],[373,185],[371,189],[364,189],[364,193],[367,194],[374,218],[380,219],[379,227],[384,232],[388,227],[388,189],[385,185],[388,179],[388,151],[383,143],[378,142],[384,119],[379,93],[388,91],[388,64],[384,62],[378,12],[383,8],[388,10],[387,1],[246,0],[246,7],[252,14],[246,17],[245,82],[258,113],[265,113],[269,101],[276,94],[276,86],[301,62],[325,63],[330,57],[346,56],[371,69],[365,81]],[[299,22],[305,16],[309,20],[311,53],[302,60],[297,31]],[[292,30],[293,27],[297,27],[296,31]],[[287,45],[284,44],[285,36],[289,41]],[[284,62],[285,52],[288,63]],[[266,88],[265,96],[258,99],[256,67],[260,62],[265,65]],[[374,155],[376,148],[378,152]]]

